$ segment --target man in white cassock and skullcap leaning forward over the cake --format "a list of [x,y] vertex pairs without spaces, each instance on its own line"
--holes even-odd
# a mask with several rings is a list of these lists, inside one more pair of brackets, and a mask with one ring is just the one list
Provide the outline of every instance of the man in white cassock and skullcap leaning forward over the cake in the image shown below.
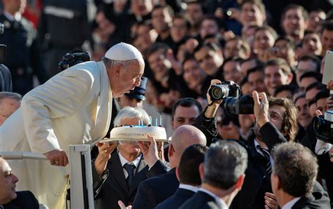
[[0,151],[42,153],[49,162],[10,161],[20,179],[17,190],[32,191],[49,208],[65,208],[67,146],[93,145],[105,137],[112,96],[139,86],[144,67],[135,47],[118,43],[102,61],[74,65],[27,93],[0,126]]

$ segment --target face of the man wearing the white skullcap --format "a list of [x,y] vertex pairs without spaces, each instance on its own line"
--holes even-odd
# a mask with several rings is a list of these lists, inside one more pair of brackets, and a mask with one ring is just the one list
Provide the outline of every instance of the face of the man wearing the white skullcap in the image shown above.
[[120,66],[119,69],[116,69],[119,78],[117,78],[117,83],[112,86],[113,96],[121,97],[124,93],[129,93],[129,90],[140,86],[144,69],[145,63],[143,60],[129,62],[127,65]]

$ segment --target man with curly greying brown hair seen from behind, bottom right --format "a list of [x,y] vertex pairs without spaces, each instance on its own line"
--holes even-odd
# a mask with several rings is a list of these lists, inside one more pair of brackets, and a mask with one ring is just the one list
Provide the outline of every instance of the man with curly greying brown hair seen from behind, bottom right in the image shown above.
[[330,208],[327,193],[311,193],[318,173],[318,163],[311,150],[294,142],[273,148],[271,175],[273,193],[281,208]]

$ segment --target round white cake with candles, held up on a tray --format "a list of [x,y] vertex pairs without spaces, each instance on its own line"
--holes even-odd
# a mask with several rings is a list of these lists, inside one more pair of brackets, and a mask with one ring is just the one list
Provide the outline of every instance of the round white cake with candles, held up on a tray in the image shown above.
[[148,135],[155,138],[157,142],[166,142],[166,131],[161,126],[119,126],[112,128],[110,139],[105,139],[103,142],[115,140],[130,140],[130,141],[148,141]]

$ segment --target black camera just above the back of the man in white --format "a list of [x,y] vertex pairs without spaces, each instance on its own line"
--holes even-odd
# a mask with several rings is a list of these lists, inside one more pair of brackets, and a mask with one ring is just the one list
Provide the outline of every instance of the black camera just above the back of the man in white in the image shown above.
[[59,62],[58,67],[63,71],[68,67],[88,61],[90,61],[89,53],[84,50],[72,50],[63,57],[63,60]]

